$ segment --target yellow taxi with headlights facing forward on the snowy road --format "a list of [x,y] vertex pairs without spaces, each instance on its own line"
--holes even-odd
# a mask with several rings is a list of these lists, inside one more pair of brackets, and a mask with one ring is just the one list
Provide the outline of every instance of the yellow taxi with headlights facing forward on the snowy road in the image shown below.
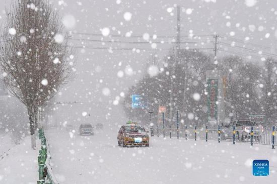
[[136,123],[136,122],[127,122],[126,125],[123,125],[117,134],[118,146],[143,146],[149,147],[149,131],[146,131],[145,128]]

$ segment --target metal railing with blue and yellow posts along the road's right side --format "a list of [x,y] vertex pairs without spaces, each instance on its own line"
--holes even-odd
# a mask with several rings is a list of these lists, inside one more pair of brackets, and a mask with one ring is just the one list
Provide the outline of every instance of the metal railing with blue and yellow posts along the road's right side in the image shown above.
[[184,128],[162,128],[159,126],[151,128],[152,134],[164,137],[183,137],[185,139],[195,140],[218,140],[228,142],[242,142],[254,144],[272,145],[274,148],[277,138],[275,136],[275,127],[262,127],[261,131],[249,131],[247,136],[243,130],[236,130],[235,127],[206,126],[197,128],[196,126],[185,126]]

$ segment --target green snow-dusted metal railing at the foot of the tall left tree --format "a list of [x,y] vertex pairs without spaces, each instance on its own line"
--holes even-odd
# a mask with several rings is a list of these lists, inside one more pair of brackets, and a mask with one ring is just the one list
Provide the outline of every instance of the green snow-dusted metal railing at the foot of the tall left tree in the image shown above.
[[39,150],[38,156],[39,180],[37,184],[58,184],[50,166],[49,146],[42,128],[39,129],[39,139],[41,139],[41,150]]

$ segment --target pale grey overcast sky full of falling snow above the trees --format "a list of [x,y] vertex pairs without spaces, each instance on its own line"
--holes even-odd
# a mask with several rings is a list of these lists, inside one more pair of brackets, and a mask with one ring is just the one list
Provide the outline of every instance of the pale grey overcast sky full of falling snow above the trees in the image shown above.
[[[0,0],[2,22],[5,21],[6,1]],[[77,78],[61,91],[57,97],[61,102],[122,99],[120,93],[140,79],[151,54],[162,59],[168,52],[166,49],[170,49],[176,36],[177,6],[181,7],[181,42],[194,42],[182,43],[183,48],[200,48],[214,54],[212,35],[218,34],[222,36],[218,40],[222,43],[218,45],[218,56],[246,53],[240,49],[245,45],[243,41],[251,43],[245,48],[250,51],[252,60],[262,62],[261,58],[267,57],[264,53],[276,54],[275,0],[51,2],[59,10],[64,31],[71,33],[74,46],[85,46],[78,48]],[[266,48],[259,47],[261,45]]]

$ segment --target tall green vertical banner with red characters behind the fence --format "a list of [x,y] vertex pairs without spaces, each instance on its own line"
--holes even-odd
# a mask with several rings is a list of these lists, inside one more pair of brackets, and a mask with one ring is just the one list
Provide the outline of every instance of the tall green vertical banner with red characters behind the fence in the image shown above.
[[217,121],[218,79],[206,79],[207,121]]

